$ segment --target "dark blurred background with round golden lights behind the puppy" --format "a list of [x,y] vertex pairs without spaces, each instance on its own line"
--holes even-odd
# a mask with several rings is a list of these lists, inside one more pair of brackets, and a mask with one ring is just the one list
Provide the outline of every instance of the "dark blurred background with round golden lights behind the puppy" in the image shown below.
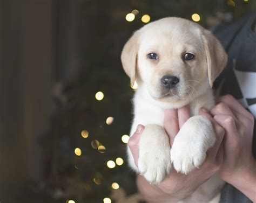
[[142,202],[125,155],[125,41],[163,17],[214,29],[255,10],[255,0],[0,0],[0,202]]

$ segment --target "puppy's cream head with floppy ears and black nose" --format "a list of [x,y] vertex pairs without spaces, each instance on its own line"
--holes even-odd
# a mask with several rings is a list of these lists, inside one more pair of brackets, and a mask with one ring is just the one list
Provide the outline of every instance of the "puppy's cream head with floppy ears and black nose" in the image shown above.
[[226,66],[227,55],[200,25],[169,17],[134,32],[121,60],[131,85],[136,79],[154,99],[179,101],[212,86]]

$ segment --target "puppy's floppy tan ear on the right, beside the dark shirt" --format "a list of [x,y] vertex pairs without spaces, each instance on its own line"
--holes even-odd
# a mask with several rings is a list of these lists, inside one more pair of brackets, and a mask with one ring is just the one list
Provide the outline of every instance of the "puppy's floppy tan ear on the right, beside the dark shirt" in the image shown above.
[[227,64],[227,54],[219,40],[210,31],[203,31],[204,48],[206,53],[208,79],[212,87],[214,80]]

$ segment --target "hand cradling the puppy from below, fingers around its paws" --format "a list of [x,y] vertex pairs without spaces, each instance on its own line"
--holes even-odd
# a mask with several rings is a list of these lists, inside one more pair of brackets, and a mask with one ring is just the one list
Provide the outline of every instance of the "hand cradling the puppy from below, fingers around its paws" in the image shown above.
[[[205,162],[201,165],[200,169],[196,169],[187,175],[177,173],[173,169],[169,178],[165,179],[159,185],[151,186],[151,192],[149,192],[149,183],[142,176],[139,176],[137,180],[139,190],[150,201],[153,201],[152,198],[157,198],[157,194],[161,195],[159,195],[156,201],[164,202],[167,198],[169,200],[172,198],[173,201],[184,199],[219,171],[223,160],[223,146],[221,142],[224,136],[224,129],[213,120],[207,111],[201,111],[200,115],[206,116],[211,120],[214,131],[217,134],[217,142],[208,150]],[[187,106],[165,111],[164,128],[169,136],[171,146],[179,129],[189,117],[190,109]],[[138,143],[143,130],[144,126],[138,125],[137,131],[128,142],[136,165],[138,164]],[[207,195],[207,197],[210,196],[211,194]]]

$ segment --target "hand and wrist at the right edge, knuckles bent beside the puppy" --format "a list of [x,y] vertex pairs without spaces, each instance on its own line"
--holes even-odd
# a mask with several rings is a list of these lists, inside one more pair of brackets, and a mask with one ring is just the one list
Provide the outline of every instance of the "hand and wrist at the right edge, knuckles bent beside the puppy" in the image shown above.
[[223,180],[256,202],[256,165],[252,155],[254,117],[231,95],[221,96],[211,109],[214,120],[225,129]]

